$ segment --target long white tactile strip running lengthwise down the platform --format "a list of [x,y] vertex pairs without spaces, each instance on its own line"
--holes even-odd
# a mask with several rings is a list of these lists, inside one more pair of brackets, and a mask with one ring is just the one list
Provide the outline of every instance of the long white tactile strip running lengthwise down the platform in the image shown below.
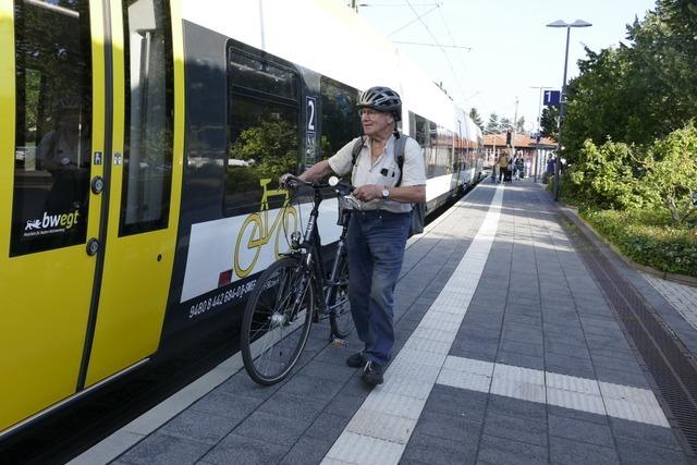
[[[502,200],[500,186],[467,253],[387,370],[386,384],[370,392],[323,464],[399,463],[481,278]],[[445,327],[443,321],[448,321]],[[428,352],[417,348],[424,346]]]

